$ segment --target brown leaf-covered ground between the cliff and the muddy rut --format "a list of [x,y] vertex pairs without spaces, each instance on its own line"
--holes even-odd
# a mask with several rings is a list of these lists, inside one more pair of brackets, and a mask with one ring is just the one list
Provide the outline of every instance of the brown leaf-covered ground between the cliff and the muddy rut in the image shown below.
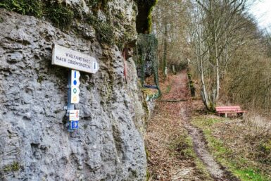
[[[181,85],[175,86],[178,82],[179,75],[172,75],[165,82],[161,82],[162,99],[176,100],[180,99],[180,95],[188,95],[187,90],[180,89]],[[189,135],[184,128],[184,120],[179,116],[179,110],[185,104],[184,101],[156,102],[145,137],[149,181],[211,180],[197,168],[193,145],[190,144],[190,139],[189,143],[187,141]]]

